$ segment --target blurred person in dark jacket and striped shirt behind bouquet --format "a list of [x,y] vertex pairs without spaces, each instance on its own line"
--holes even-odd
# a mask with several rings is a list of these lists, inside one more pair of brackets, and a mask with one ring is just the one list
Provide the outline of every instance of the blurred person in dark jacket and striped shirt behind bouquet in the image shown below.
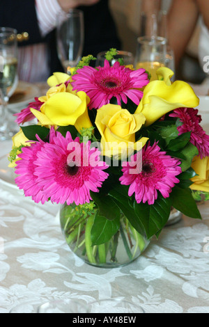
[[109,0],[1,0],[0,26],[29,35],[18,42],[21,81],[46,81],[53,72],[63,71],[56,52],[56,15],[71,8],[84,12],[83,56],[96,56],[111,47],[120,49]]

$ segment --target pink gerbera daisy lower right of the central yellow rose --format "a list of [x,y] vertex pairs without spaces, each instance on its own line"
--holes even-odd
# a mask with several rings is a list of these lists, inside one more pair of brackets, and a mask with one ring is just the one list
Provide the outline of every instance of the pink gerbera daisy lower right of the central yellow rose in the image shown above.
[[142,149],[141,171],[133,174],[132,169],[137,167],[139,157],[138,152],[131,157],[130,162],[123,163],[120,181],[123,185],[130,185],[128,196],[135,193],[137,203],[147,201],[148,205],[153,205],[157,199],[157,190],[164,198],[169,198],[171,189],[179,182],[176,175],[181,173],[180,161],[162,152],[155,143]]

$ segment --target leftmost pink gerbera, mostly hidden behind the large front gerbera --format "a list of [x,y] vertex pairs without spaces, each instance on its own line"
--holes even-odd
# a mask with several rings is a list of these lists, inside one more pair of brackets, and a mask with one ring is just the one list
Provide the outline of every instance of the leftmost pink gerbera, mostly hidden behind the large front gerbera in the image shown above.
[[24,190],[25,196],[31,196],[36,203],[44,204],[48,198],[42,191],[42,186],[38,184],[38,177],[34,175],[36,170],[37,154],[42,149],[44,142],[31,144],[29,147],[22,147],[22,153],[18,155],[21,160],[17,161],[15,173],[19,175],[15,178],[17,186]]

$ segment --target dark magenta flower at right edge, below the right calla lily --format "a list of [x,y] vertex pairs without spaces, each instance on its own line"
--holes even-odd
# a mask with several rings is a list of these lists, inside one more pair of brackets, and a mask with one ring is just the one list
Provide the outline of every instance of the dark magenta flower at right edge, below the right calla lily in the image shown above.
[[176,117],[183,122],[183,125],[178,126],[179,135],[191,131],[190,142],[199,150],[199,156],[209,156],[209,136],[203,130],[199,123],[201,115],[198,115],[198,110],[193,108],[178,108],[170,114],[170,117]]

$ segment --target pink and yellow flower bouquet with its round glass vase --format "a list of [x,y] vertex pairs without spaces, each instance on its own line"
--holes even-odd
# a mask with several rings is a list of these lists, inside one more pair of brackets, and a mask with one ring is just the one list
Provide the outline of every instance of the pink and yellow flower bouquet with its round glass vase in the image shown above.
[[209,191],[209,136],[192,87],[171,83],[166,67],[150,81],[142,68],[111,65],[116,54],[104,67],[87,56],[70,76],[54,73],[47,94],[17,113],[10,153],[17,186],[61,204],[68,245],[97,266],[138,257],[171,208],[201,218],[193,192]]

